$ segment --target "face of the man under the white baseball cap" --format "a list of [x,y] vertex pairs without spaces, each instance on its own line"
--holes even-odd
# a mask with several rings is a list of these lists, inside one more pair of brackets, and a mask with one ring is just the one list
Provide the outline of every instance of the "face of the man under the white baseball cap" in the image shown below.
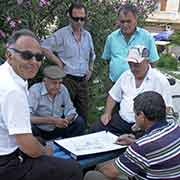
[[143,79],[145,77],[148,68],[147,60],[144,60],[141,63],[129,62],[128,64],[135,79]]

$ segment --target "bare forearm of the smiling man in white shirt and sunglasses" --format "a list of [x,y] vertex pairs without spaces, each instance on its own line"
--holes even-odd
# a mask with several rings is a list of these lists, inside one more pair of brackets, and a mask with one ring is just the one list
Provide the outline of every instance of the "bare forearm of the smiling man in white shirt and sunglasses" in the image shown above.
[[42,146],[32,134],[16,135],[16,143],[22,152],[32,158],[49,155],[48,149]]

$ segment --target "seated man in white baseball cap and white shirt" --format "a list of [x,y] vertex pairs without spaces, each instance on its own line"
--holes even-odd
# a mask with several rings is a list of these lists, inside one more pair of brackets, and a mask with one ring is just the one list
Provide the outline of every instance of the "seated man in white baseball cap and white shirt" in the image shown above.
[[[133,99],[144,91],[160,93],[166,103],[167,110],[172,107],[170,85],[166,77],[148,63],[149,51],[143,46],[133,47],[128,53],[130,70],[124,72],[109,91],[105,112],[100,121],[94,123],[90,132],[108,130],[121,135],[131,133],[135,123]],[[116,103],[120,110],[112,113]]]

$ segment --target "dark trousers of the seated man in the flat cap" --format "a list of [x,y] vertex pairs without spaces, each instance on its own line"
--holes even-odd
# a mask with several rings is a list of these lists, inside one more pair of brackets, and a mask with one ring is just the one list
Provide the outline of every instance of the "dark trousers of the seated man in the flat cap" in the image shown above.
[[52,140],[58,137],[67,138],[83,135],[85,131],[85,122],[81,116],[78,116],[75,121],[67,128],[55,128],[53,131],[44,131],[36,125],[32,125],[34,136],[43,138],[44,140]]

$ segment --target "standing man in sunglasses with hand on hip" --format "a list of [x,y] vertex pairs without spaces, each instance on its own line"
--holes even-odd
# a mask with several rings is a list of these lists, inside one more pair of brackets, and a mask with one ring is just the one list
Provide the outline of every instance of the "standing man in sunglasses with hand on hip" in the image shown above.
[[[87,119],[88,80],[95,60],[91,35],[83,26],[87,10],[83,4],[71,4],[68,10],[70,24],[42,42],[44,54],[60,67],[66,77],[64,84],[79,115]],[[52,52],[56,52],[58,58]]]

